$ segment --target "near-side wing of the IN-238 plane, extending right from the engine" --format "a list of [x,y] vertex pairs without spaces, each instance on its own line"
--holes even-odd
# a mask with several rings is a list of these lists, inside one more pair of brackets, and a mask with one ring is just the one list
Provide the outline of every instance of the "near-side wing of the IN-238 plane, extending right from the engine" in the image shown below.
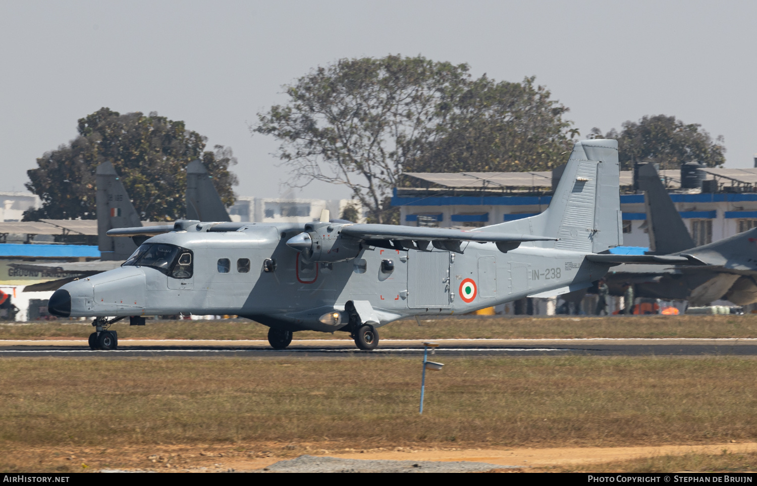
[[500,251],[509,251],[524,241],[556,241],[549,236],[517,235],[463,229],[416,228],[386,224],[353,224],[341,228],[341,234],[359,238],[379,248],[414,248],[425,250],[429,243],[435,248],[460,252],[461,241],[493,242]]

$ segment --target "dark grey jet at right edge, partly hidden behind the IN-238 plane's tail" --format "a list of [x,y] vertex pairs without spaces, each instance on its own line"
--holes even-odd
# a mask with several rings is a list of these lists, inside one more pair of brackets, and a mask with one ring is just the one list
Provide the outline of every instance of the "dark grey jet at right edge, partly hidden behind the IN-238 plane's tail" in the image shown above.
[[645,193],[649,253],[687,255],[697,264],[616,266],[606,276],[612,293],[622,294],[628,282],[638,297],[686,300],[694,306],[720,298],[737,305],[757,302],[757,229],[694,247],[654,165],[640,164],[637,170],[639,188]]

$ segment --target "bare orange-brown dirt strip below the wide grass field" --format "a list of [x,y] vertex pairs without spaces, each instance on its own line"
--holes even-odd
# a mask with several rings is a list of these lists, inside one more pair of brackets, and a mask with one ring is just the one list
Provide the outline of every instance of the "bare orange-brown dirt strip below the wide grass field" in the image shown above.
[[[326,444],[319,444],[322,447]],[[503,472],[543,472],[554,466],[579,466],[590,470],[592,465],[615,463],[646,457],[684,454],[755,453],[757,443],[664,445],[643,447],[514,447],[506,449],[448,447],[382,447],[370,450],[314,449],[308,444],[205,444],[161,445],[141,447],[102,448],[40,448],[6,450],[5,464],[0,469],[15,472],[14,463],[24,463],[25,472],[39,470],[59,472],[96,472],[100,469],[152,470],[157,472],[226,472],[250,471],[270,466],[279,460],[302,454],[362,460],[413,460],[413,461],[471,461],[501,466],[517,466]]]

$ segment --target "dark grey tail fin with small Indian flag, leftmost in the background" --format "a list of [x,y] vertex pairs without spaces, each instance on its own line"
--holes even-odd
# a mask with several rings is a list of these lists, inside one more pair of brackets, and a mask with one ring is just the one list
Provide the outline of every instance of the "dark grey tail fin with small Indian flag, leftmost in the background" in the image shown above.
[[132,238],[113,238],[105,235],[108,229],[142,226],[132,201],[110,162],[98,165],[97,229],[101,260],[126,260],[136,250]]

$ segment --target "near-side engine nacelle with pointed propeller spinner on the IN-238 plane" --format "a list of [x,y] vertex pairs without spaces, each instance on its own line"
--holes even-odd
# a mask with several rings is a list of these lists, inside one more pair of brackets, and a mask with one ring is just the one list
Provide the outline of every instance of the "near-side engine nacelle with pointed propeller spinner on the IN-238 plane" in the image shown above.
[[342,236],[341,224],[310,223],[305,231],[286,242],[289,248],[301,252],[313,262],[341,262],[360,253],[360,240]]

